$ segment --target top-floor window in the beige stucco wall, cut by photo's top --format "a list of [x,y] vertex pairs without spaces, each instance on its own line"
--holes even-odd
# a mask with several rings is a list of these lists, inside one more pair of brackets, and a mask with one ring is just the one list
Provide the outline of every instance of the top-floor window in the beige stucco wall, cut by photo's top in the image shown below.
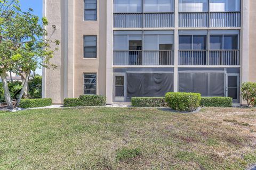
[[84,0],[84,20],[97,20],[97,0]]

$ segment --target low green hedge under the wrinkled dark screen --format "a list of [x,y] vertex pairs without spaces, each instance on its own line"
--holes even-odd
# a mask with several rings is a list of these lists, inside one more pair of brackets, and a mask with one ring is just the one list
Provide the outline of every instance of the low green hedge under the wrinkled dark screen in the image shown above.
[[134,107],[167,107],[165,97],[132,97]]

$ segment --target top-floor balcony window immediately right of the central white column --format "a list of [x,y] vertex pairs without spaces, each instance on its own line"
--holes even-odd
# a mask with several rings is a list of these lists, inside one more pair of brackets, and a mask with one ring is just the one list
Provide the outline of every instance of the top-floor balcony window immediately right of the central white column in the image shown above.
[[207,12],[207,0],[179,0],[179,12]]

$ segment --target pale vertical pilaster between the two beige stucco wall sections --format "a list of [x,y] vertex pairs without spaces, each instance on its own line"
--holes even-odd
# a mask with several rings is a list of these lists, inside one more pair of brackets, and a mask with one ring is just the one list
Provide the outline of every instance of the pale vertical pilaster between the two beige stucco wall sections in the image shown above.
[[64,98],[74,97],[74,0],[65,0]]

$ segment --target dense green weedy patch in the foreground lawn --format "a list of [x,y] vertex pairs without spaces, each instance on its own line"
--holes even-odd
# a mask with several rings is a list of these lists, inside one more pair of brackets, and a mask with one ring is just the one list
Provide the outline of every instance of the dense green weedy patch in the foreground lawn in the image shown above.
[[136,157],[140,156],[141,154],[142,154],[142,152],[139,148],[118,149],[117,154],[116,154],[116,160],[118,160],[118,161],[129,160],[129,159],[132,159],[132,158],[136,158]]

